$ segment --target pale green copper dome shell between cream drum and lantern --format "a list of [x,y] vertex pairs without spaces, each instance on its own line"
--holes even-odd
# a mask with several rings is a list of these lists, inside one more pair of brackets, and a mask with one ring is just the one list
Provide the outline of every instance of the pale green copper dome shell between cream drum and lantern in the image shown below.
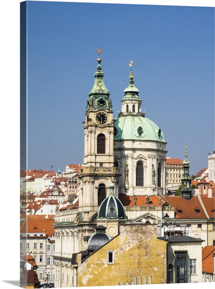
[[118,116],[114,123],[114,140],[155,140],[165,142],[163,132],[143,116]]

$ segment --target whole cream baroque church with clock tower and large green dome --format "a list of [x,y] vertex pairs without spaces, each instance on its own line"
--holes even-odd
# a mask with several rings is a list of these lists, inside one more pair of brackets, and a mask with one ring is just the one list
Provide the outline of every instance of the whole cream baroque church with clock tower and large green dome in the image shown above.
[[119,224],[133,218],[135,212],[126,216],[120,196],[135,200],[138,196],[159,197],[166,192],[166,142],[161,129],[142,112],[142,100],[134,85],[133,62],[129,64],[129,85],[124,90],[122,109],[113,119],[110,92],[100,65],[101,50],[98,53],[95,82],[83,122],[84,162],[79,170],[79,199],[69,210],[56,208],[56,287],[77,286],[76,253],[83,252],[84,257],[96,227],[98,231],[106,228],[105,234],[113,238]]

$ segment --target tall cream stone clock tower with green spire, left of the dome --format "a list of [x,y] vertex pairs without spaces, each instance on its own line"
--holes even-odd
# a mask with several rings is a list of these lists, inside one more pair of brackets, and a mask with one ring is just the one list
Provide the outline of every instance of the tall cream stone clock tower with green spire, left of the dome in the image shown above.
[[98,207],[109,194],[109,184],[115,185],[118,197],[119,168],[114,166],[113,134],[114,119],[112,103],[103,77],[101,49],[95,83],[87,99],[84,124],[84,163],[80,169],[79,222],[92,221]]

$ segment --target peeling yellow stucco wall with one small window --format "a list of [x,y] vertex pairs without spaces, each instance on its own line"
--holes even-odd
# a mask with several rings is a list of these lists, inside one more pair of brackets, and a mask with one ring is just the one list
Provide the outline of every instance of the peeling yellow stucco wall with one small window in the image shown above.
[[[114,264],[108,264],[114,251]],[[152,276],[152,284],[166,283],[166,242],[157,239],[157,225],[120,226],[120,235],[89,256],[82,264],[78,256],[79,286],[112,286]]]

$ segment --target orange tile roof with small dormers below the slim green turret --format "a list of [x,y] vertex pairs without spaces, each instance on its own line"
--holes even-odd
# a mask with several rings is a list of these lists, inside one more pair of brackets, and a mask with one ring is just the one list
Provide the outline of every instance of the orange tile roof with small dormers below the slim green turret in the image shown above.
[[[165,196],[170,206],[174,206],[175,217],[179,219],[207,219],[199,198],[193,196],[186,200],[181,196]],[[199,210],[199,213],[198,211]],[[181,213],[179,213],[181,211]]]

